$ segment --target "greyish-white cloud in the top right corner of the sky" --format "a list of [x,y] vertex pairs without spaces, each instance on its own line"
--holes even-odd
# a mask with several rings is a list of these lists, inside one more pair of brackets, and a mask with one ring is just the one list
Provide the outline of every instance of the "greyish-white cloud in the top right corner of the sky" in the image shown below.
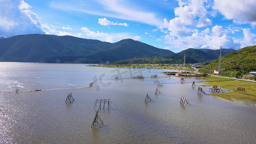
[[256,25],[256,0],[214,0],[213,9],[234,23]]

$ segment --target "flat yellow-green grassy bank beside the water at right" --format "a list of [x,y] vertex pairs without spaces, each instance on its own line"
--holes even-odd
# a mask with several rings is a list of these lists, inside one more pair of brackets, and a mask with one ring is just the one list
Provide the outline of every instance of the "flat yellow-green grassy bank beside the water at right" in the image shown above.
[[[231,92],[228,92],[228,93],[210,94],[212,96],[225,98],[233,102],[234,102],[233,99],[236,99],[241,101],[252,101],[256,103],[256,83],[254,83],[254,86],[253,86],[253,82],[234,80],[229,78],[213,77],[213,76],[208,76],[208,77],[205,77],[204,79],[207,80],[207,82],[203,84],[203,86],[219,85],[221,86],[221,88],[232,90]],[[245,88],[245,91],[247,94],[243,94],[242,92],[239,94],[239,92],[236,91],[237,87]]]

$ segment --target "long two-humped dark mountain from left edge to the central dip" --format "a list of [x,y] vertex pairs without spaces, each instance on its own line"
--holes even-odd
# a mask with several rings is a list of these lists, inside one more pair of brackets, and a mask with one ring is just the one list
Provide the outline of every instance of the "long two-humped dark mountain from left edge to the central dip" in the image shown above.
[[148,56],[167,56],[171,50],[133,39],[116,43],[74,36],[18,35],[0,39],[0,61],[76,63],[114,62]]

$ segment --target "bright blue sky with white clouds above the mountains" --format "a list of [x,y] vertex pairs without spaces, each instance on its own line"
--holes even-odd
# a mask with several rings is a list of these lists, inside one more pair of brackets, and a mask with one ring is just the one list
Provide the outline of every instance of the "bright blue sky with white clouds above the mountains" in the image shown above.
[[256,45],[256,0],[0,0],[0,37],[51,34],[157,48]]

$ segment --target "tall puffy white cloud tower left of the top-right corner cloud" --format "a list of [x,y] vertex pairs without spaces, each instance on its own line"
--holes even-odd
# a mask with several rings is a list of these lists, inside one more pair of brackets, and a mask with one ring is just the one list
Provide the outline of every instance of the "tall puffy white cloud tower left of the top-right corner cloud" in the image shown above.
[[212,20],[207,17],[207,9],[205,3],[207,0],[178,0],[179,7],[174,9],[175,18],[169,22],[164,19],[160,29],[167,28],[171,36],[181,37],[190,36],[198,30],[188,28],[187,25],[192,27],[205,27],[212,24]]

